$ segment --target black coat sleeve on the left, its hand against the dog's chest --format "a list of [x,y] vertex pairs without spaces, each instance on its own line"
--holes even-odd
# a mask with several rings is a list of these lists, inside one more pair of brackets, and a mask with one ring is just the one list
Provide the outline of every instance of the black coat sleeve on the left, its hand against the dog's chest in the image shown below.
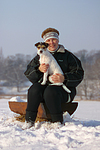
[[25,76],[35,83],[39,80],[42,80],[43,73],[39,71],[39,56],[34,57],[31,62],[28,64],[26,71],[24,72]]

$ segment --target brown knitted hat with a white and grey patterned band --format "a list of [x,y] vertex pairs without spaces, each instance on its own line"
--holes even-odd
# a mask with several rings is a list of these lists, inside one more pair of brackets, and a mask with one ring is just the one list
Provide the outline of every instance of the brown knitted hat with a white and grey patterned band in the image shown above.
[[59,31],[54,28],[47,28],[42,32],[41,37],[44,39],[44,41],[50,38],[55,38],[59,40]]

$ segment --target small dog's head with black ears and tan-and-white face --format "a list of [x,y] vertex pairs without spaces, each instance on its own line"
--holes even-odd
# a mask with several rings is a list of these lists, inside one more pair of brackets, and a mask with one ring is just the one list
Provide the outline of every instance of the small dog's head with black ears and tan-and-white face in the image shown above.
[[38,43],[35,44],[35,46],[38,49],[38,52],[37,52],[38,55],[41,55],[41,54],[43,54],[46,51],[46,49],[49,46],[49,44],[45,43],[45,42],[38,42]]

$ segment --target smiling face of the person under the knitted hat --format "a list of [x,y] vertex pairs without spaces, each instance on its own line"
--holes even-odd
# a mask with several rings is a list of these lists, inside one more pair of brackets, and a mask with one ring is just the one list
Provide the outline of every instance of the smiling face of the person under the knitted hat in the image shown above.
[[58,39],[50,38],[50,39],[46,40],[46,43],[49,44],[48,49],[50,51],[55,51],[58,48],[59,41],[58,41]]

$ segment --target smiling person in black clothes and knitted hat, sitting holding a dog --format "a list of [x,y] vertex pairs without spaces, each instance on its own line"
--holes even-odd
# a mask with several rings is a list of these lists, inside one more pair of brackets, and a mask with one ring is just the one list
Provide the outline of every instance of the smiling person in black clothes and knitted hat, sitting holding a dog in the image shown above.
[[50,85],[49,81],[47,81],[46,85],[41,85],[43,73],[47,71],[49,64],[43,63],[40,65],[39,56],[36,55],[25,71],[25,75],[32,82],[32,86],[28,90],[24,129],[34,125],[41,102],[44,102],[49,109],[52,122],[63,123],[61,104],[73,101],[76,95],[76,86],[82,81],[84,75],[80,60],[66,50],[63,45],[59,44],[58,30],[47,28],[42,32],[41,37],[44,39],[44,42],[49,44],[48,51],[57,60],[64,73],[64,75],[52,75],[52,80],[54,83],[64,83],[71,93],[67,93],[62,86]]

